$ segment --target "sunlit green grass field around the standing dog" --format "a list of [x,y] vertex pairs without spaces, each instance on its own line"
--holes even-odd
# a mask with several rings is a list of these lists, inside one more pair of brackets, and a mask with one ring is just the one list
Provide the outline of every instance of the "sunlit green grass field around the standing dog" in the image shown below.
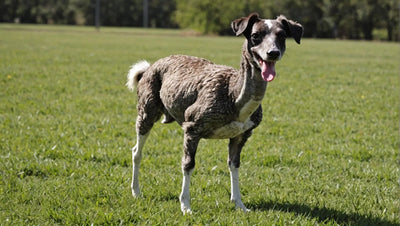
[[200,142],[183,216],[182,131],[155,125],[130,191],[129,66],[189,54],[238,67],[243,37],[0,24],[1,225],[398,225],[398,43],[287,41],[229,202],[227,140]]

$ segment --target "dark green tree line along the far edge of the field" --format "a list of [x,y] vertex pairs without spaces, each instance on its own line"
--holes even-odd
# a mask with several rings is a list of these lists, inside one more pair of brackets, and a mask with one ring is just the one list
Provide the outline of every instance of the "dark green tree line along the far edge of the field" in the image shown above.
[[[101,0],[104,26],[143,25],[144,0]],[[398,0],[148,0],[150,27],[231,34],[230,22],[258,12],[280,14],[315,38],[399,40]],[[94,25],[95,0],[0,0],[0,22]],[[379,37],[374,37],[377,36]]]

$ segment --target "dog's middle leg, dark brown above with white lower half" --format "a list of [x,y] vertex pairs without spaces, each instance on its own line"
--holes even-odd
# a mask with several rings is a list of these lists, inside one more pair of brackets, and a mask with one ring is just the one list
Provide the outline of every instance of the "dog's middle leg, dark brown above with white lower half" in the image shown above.
[[192,175],[195,166],[195,155],[197,145],[199,144],[200,138],[193,136],[188,132],[187,127],[185,128],[185,135],[183,141],[183,158],[182,158],[182,171],[183,171],[183,182],[182,192],[179,196],[181,202],[181,210],[183,214],[191,214],[190,208],[190,176]]

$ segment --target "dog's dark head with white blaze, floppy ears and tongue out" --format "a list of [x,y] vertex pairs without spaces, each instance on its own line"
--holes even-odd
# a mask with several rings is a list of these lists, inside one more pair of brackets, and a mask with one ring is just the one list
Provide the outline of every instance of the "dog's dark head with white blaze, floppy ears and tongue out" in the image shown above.
[[275,62],[285,52],[286,38],[292,37],[300,44],[303,35],[301,24],[282,15],[275,20],[267,20],[252,13],[248,17],[234,20],[231,27],[236,36],[243,34],[246,37],[252,63],[260,68],[261,75],[267,82],[275,78]]

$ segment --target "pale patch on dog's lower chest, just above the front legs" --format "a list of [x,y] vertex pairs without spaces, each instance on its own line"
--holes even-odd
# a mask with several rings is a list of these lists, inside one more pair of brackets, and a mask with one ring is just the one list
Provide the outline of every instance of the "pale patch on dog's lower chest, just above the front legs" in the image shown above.
[[246,130],[249,130],[254,126],[254,122],[248,119],[245,122],[233,121],[229,124],[226,124],[223,127],[220,127],[214,131],[214,133],[209,137],[211,139],[228,139],[232,137],[236,137],[239,134],[244,133]]

